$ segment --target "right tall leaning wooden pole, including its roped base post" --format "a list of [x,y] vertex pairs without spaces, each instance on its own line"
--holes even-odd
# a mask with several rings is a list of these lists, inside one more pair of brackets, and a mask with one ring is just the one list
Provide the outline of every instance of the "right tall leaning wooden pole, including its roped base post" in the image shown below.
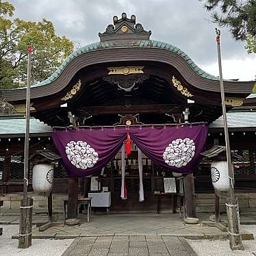
[[227,166],[229,170],[229,196],[227,198],[227,218],[229,222],[229,246],[231,250],[243,250],[244,246],[242,245],[242,238],[240,235],[240,217],[239,217],[239,207],[238,199],[235,199],[235,175],[233,170],[233,164],[231,162],[231,151],[229,144],[229,130],[227,126],[227,113],[226,113],[226,104],[225,104],[225,90],[222,78],[222,64],[221,64],[221,54],[220,54],[220,29],[216,30],[216,43],[218,50],[218,68],[220,73],[220,94],[221,94],[221,105],[222,105],[222,115],[223,115],[223,124],[225,131],[225,144],[226,144],[226,153],[227,153]]

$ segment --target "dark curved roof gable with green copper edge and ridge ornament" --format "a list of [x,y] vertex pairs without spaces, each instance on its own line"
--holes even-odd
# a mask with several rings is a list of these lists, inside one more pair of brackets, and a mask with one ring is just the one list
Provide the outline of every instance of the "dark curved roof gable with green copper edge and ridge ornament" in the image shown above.
[[[144,30],[140,23],[136,24],[134,15],[127,18],[127,15],[123,13],[120,19],[114,16],[113,21],[114,25],[108,25],[105,32],[99,33],[100,42],[77,49],[64,60],[53,75],[31,86],[32,89],[34,88],[31,90],[31,97],[42,97],[42,95],[59,92],[71,81],[75,73],[85,66],[101,62],[119,62],[120,60],[165,62],[174,66],[184,79],[190,80],[190,84],[195,88],[219,92],[218,77],[203,71],[187,53],[178,47],[166,42],[151,40],[151,31]],[[116,49],[116,51],[112,51],[112,49]],[[60,78],[60,84],[58,84],[58,78]],[[46,85],[49,86],[47,94],[43,92],[42,88]],[[253,82],[225,80],[225,92],[229,93],[250,94],[253,92],[253,86]],[[14,95],[12,94],[13,90],[5,90],[6,99],[24,99],[25,88],[14,90],[18,90],[19,93]]]

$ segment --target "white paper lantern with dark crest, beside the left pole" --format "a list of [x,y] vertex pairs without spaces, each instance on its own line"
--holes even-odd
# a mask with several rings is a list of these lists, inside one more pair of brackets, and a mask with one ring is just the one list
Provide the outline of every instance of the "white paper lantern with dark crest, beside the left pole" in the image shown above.
[[39,196],[49,196],[53,188],[53,164],[35,164],[32,185]]

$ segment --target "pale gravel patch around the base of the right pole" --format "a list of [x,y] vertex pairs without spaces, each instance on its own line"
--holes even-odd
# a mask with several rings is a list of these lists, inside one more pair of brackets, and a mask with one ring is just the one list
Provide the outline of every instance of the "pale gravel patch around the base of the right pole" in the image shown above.
[[[256,225],[242,225],[243,229],[253,233],[256,239]],[[188,240],[194,251],[199,256],[255,256],[256,242],[255,240],[243,241],[244,251],[231,251],[229,248],[229,240],[225,241],[209,241],[209,240]]]

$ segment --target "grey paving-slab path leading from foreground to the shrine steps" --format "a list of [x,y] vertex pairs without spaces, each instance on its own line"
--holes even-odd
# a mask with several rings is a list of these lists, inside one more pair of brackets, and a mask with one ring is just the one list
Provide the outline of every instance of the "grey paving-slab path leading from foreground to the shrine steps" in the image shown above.
[[158,235],[76,238],[62,256],[196,256],[184,238]]

